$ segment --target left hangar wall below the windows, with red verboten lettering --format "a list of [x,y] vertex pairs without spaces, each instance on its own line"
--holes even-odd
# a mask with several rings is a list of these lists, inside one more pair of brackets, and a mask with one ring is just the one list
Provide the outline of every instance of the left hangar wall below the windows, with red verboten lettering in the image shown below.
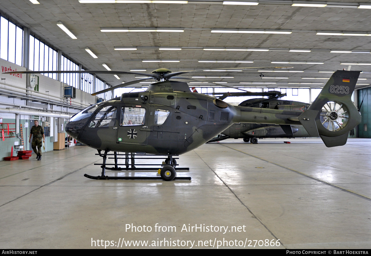
[[[0,108],[21,108],[23,110],[46,111],[55,113],[78,113],[81,109],[96,103],[96,97],[82,90],[76,89],[76,99],[64,97],[65,84],[50,77],[38,74],[37,86],[35,89],[29,87],[29,76],[26,74],[2,74],[3,72],[26,70],[26,68],[16,65],[10,61],[0,59]],[[29,150],[28,143],[29,131],[31,129],[30,115],[19,115],[20,124],[23,125],[24,149]],[[10,113],[1,113],[0,119],[3,123],[16,123],[16,115]],[[40,121],[45,121],[45,118],[40,114]],[[24,124],[28,123],[28,127]],[[15,124],[11,124],[10,129],[15,128]],[[13,146],[13,155],[16,155],[14,142],[19,141],[17,137],[4,138],[3,141],[1,132],[4,129],[4,137],[9,137],[7,134],[7,126],[0,126],[0,160],[3,157],[10,156]],[[12,131],[12,130],[11,130]],[[15,132],[13,130],[13,132]],[[67,134],[66,134],[67,136]],[[54,136],[45,138],[46,151],[53,150]],[[21,143],[20,143],[21,144]],[[32,149],[31,149],[32,150]]]

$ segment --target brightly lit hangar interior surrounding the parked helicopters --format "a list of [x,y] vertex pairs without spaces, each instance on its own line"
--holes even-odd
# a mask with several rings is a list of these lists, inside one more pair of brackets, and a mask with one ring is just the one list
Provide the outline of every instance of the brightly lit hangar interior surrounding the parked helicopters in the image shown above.
[[[204,242],[213,239],[279,239],[273,247],[370,248],[370,6],[349,0],[2,0],[0,158],[12,150],[17,154],[21,135],[23,149],[32,150],[34,120],[40,121],[46,143],[42,161],[33,154],[29,160],[0,162],[0,246],[92,248],[99,247],[92,240],[125,237],[203,241],[198,247],[210,247]],[[346,145],[332,148],[319,138],[203,144],[179,156],[179,166],[190,170],[178,176],[191,176],[190,181],[86,179],[84,173],[100,173],[94,164],[102,159],[95,149],[70,140],[65,124],[92,104],[143,92],[154,81],[92,96],[145,77],[36,71],[150,73],[162,67],[203,70],[181,80],[199,93],[274,90],[287,93],[282,99],[306,103],[336,70],[359,70],[352,101],[361,123]],[[27,70],[35,74],[3,74]],[[238,105],[251,98],[224,101]],[[177,231],[125,229],[156,223]],[[245,225],[246,231],[182,232],[183,224]]]

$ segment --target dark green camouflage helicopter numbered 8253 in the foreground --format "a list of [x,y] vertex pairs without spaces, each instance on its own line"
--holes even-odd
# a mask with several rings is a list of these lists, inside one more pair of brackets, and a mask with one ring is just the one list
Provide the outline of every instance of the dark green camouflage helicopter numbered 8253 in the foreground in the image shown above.
[[[196,71],[203,70],[191,72]],[[232,106],[216,97],[191,92],[185,82],[170,80],[170,78],[184,79],[177,76],[188,72],[157,69],[152,73],[86,70],[10,73],[104,73],[147,76],[92,95],[135,84],[140,80],[154,78],[159,81],[150,84],[144,92],[123,93],[121,97],[87,107],[69,120],[65,130],[77,141],[98,151],[104,150],[104,156],[109,151],[169,156],[170,164],[161,169],[161,177],[164,180],[175,178],[176,172],[171,166],[173,155],[196,149],[234,123],[302,124],[310,136],[321,136],[327,147],[334,147],[344,145],[349,130],[361,121],[361,116],[351,101],[360,71],[336,71],[304,112]],[[324,106],[329,107],[322,113]],[[321,122],[321,116],[326,122],[331,122],[332,126],[325,127]],[[344,119],[344,122],[340,124],[339,118]],[[338,128],[334,124],[338,124]],[[102,176],[96,178],[104,179],[103,172]]]

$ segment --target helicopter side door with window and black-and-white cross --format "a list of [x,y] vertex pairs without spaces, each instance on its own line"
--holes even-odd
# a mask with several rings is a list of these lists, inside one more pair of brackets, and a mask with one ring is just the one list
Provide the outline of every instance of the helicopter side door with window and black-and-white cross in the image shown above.
[[147,110],[142,106],[121,106],[117,143],[147,145]]

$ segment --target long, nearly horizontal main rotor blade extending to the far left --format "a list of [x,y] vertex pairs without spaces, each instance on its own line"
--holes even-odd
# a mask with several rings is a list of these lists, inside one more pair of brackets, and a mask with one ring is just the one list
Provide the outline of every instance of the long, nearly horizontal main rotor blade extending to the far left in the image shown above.
[[134,74],[140,76],[149,76],[155,79],[159,79],[157,73],[141,73],[141,72],[131,72],[131,71],[114,71],[114,70],[59,70],[59,71],[12,71],[5,72],[3,74]]

